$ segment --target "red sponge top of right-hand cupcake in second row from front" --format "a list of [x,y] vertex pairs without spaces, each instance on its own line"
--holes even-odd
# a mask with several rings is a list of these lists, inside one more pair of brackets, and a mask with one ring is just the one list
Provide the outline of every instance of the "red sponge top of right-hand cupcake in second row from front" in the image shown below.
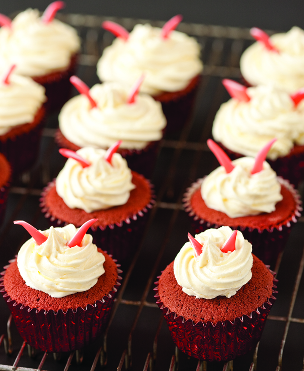
[[271,228],[279,227],[286,223],[296,210],[296,202],[292,193],[284,186],[281,187],[283,200],[275,205],[275,210],[271,213],[262,213],[238,218],[229,218],[228,215],[210,209],[206,206],[201,197],[200,187],[194,192],[191,198],[191,206],[195,214],[211,224],[229,225],[230,227],[249,227],[249,228]]

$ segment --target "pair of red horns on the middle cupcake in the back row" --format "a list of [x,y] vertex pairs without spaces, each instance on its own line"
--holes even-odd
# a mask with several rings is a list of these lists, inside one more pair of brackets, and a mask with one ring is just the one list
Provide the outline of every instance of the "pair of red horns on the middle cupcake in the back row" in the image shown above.
[[[181,21],[182,16],[180,14],[169,19],[161,29],[161,37],[164,40],[167,39],[170,36],[171,32],[177,28]],[[122,38],[125,41],[127,41],[127,39],[129,38],[129,32],[120,24],[117,24],[110,20],[106,20],[102,23],[102,27],[105,30],[111,32],[114,36]]]

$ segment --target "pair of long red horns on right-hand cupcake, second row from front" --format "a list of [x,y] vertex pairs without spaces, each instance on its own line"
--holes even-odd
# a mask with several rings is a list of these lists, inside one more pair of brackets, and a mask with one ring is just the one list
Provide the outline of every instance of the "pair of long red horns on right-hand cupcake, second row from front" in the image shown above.
[[[265,147],[259,150],[255,156],[255,162],[252,167],[251,174],[255,174],[263,170],[263,162],[266,160],[269,149],[276,140],[276,138],[271,139]],[[207,140],[207,145],[215,155],[220,165],[225,168],[226,173],[229,174],[234,169],[234,165],[232,164],[229,156],[212,139]]]

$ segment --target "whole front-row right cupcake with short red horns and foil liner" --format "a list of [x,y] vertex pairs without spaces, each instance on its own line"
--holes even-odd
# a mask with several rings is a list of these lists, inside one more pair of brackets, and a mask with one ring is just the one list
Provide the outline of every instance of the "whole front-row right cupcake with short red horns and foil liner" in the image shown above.
[[157,304],[182,352],[229,361],[260,340],[277,293],[274,272],[240,231],[223,226],[188,236],[156,282]]

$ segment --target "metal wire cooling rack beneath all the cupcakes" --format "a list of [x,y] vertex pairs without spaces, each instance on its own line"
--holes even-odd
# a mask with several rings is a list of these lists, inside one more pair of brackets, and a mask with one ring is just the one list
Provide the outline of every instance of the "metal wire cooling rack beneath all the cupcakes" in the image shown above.
[[[58,15],[71,24],[83,39],[78,76],[89,86],[98,82],[95,65],[113,37],[100,24],[114,20],[131,30],[136,23],[162,26],[162,21],[114,19],[78,14]],[[280,268],[279,295],[254,352],[227,363],[197,362],[179,352],[153,298],[153,282],[187,240],[190,222],[182,210],[185,188],[217,166],[206,146],[216,111],[228,95],[223,77],[239,78],[239,58],[250,43],[248,29],[181,23],[178,28],[197,37],[202,46],[204,78],[197,96],[196,112],[179,133],[161,141],[160,156],[152,183],[157,203],[152,209],[143,242],[125,269],[124,281],[116,298],[107,330],[92,347],[71,354],[38,352],[22,342],[3,300],[0,302],[0,370],[304,370],[303,219],[295,226]],[[268,33],[271,33],[268,31]],[[23,174],[12,186],[6,218],[0,229],[2,266],[13,258],[27,234],[13,227],[13,220],[24,219],[40,229],[48,228],[39,209],[39,195],[63,166],[54,145],[57,117],[50,117],[44,129],[41,153],[36,167]],[[13,247],[14,246],[14,247]],[[16,247],[16,248],[15,248]],[[7,318],[8,321],[7,321]],[[6,323],[7,322],[7,323]],[[26,352],[26,349],[28,352]],[[26,354],[28,353],[28,354]]]

